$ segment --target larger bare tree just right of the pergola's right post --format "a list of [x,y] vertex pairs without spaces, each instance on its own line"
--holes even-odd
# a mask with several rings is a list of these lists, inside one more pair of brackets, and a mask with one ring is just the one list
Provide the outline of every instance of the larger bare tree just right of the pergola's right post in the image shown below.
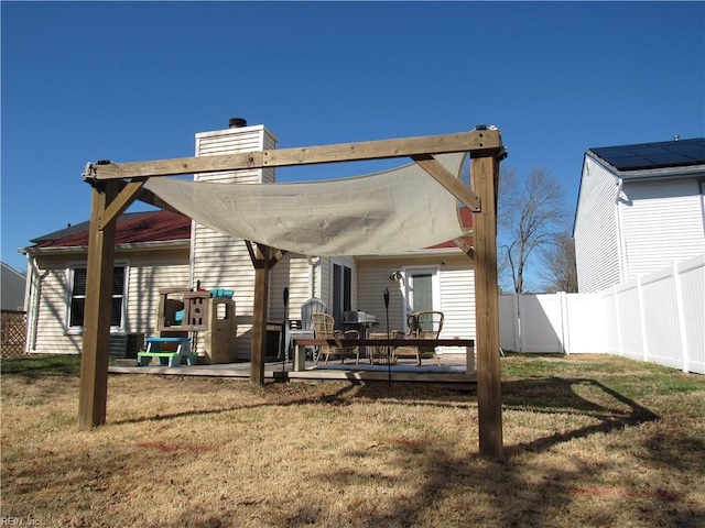
[[500,177],[499,273],[517,294],[524,292],[527,268],[541,250],[565,232],[564,196],[561,184],[545,168],[532,169],[522,182],[517,182],[513,169]]

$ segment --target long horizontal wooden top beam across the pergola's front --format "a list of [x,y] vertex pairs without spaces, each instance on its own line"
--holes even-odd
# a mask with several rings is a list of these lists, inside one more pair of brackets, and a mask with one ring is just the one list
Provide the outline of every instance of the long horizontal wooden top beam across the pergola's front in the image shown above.
[[181,157],[152,162],[100,162],[90,166],[89,178],[99,182],[134,177],[176,176],[194,173],[386,160],[453,152],[475,152],[476,154],[487,152],[489,155],[498,148],[501,148],[501,138],[498,130],[474,130],[459,134],[366,141],[215,156]]

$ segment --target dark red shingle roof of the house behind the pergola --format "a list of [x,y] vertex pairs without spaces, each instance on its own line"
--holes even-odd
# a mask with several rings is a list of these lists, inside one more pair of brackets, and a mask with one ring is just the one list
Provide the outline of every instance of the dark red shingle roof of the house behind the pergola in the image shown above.
[[[39,237],[33,248],[75,248],[88,245],[90,222],[82,222]],[[118,219],[116,244],[165,242],[191,239],[191,218],[171,211],[128,212]]]

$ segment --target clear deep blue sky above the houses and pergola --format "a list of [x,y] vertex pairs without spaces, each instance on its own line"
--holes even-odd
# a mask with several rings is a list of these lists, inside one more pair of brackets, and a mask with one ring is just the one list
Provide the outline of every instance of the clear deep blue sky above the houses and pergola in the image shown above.
[[[571,209],[587,148],[705,135],[703,2],[2,2],[1,15],[1,257],[19,271],[18,248],[88,219],[87,162],[189,156],[231,117],[280,147],[495,124],[505,164],[546,167]],[[279,179],[357,172],[332,167]]]

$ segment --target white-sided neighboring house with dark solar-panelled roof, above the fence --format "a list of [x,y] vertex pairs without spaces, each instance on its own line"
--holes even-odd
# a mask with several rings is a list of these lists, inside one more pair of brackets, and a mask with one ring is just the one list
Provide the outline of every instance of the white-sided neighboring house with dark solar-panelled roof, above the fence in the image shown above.
[[573,235],[578,290],[705,254],[705,139],[590,148]]

